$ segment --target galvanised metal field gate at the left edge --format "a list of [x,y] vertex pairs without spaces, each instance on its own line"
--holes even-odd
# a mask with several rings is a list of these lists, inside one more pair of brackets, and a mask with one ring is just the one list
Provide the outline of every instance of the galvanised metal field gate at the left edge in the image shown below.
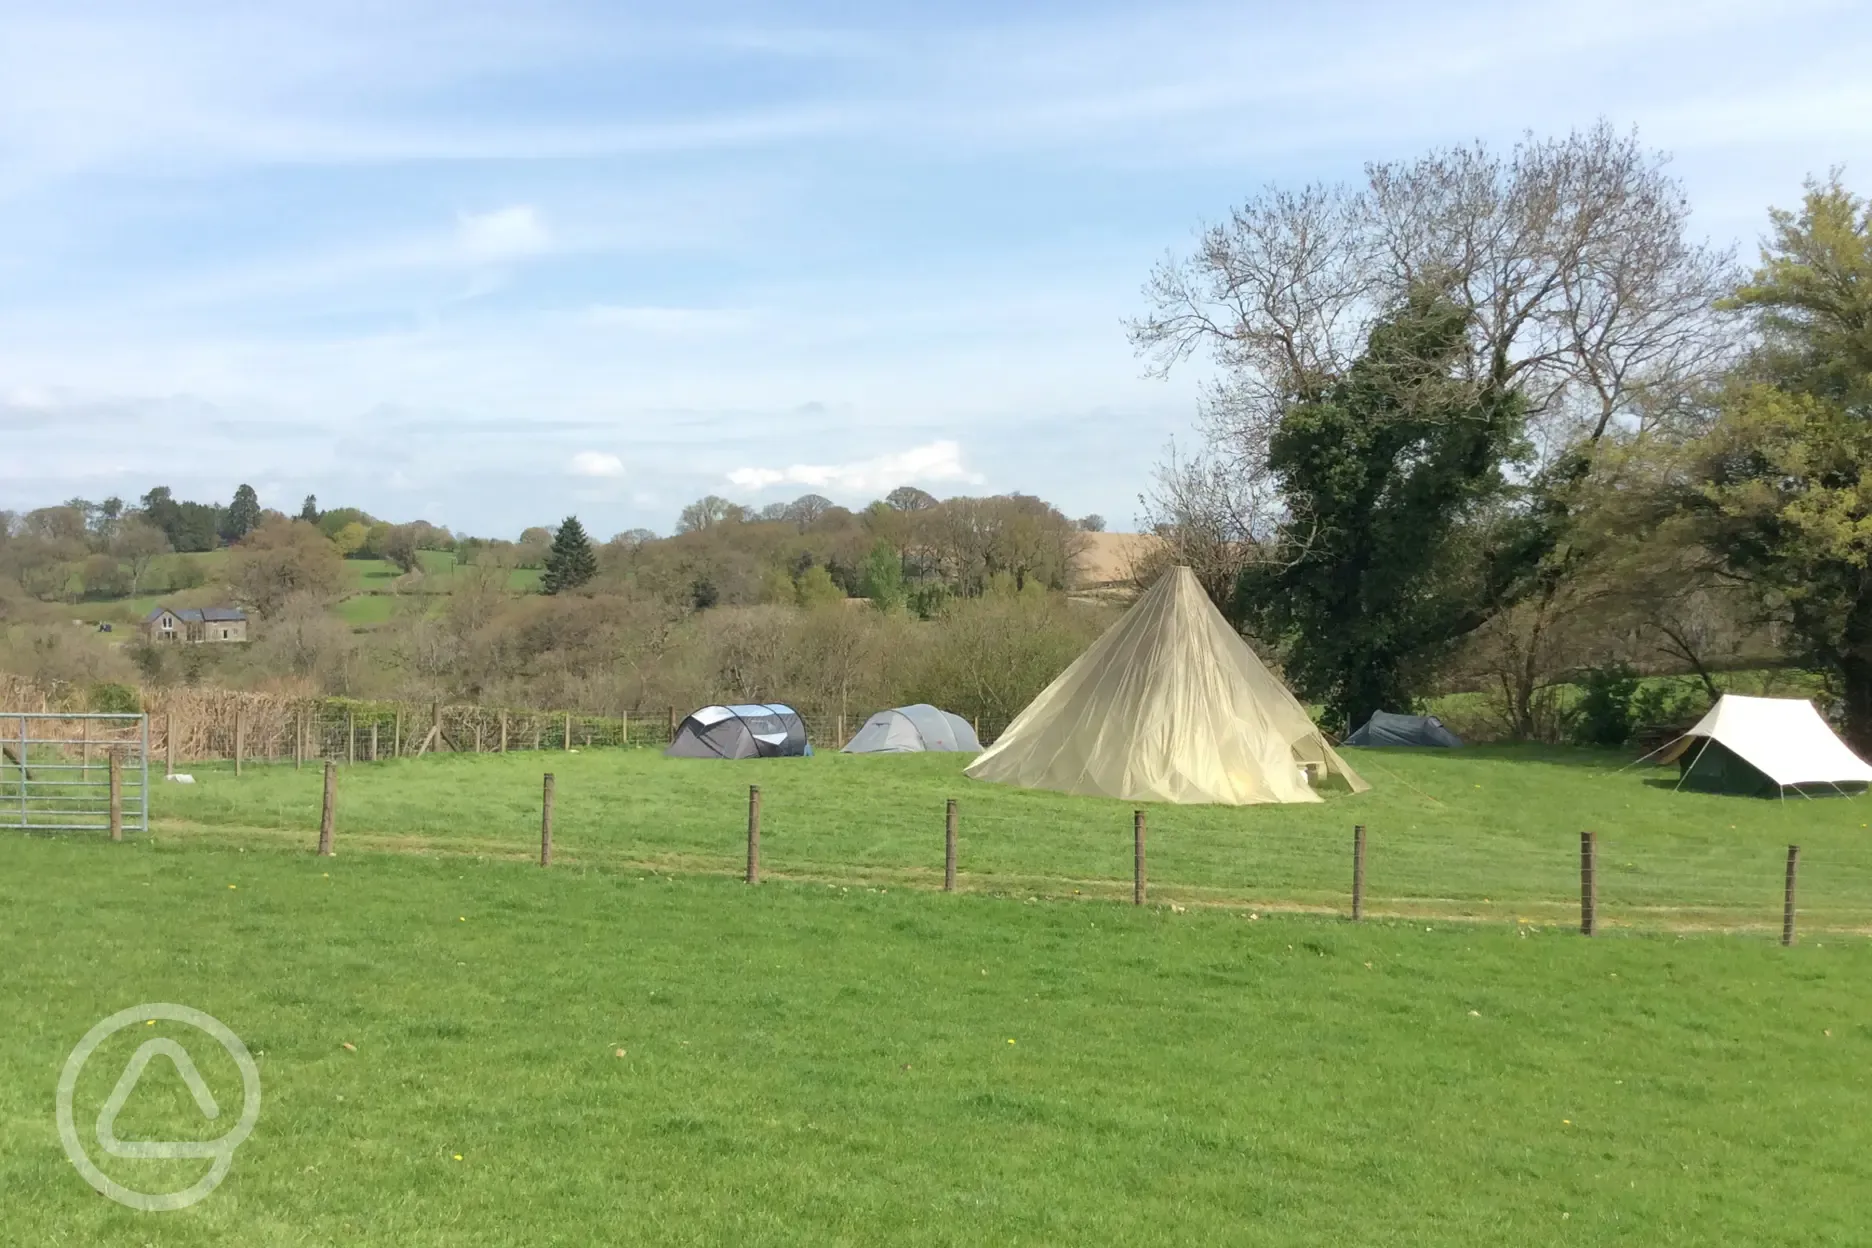
[[150,829],[146,715],[0,711],[0,829],[109,833],[112,806]]

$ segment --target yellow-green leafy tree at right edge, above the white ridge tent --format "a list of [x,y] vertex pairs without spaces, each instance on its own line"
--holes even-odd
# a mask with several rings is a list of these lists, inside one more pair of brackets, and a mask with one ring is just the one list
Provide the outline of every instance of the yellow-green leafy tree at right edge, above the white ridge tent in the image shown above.
[[1846,737],[1872,752],[1872,204],[1838,178],[1808,183],[1730,307],[1762,341],[1694,447],[1685,507],[1835,677]]

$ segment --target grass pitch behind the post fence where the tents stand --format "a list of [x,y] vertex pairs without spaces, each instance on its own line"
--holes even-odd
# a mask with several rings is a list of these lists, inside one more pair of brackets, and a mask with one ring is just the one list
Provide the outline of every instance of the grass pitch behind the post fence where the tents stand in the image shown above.
[[[1374,909],[1559,921],[1578,906],[1578,834],[1601,838],[1610,922],[1778,928],[1786,846],[1803,846],[1806,922],[1872,924],[1872,799],[1762,801],[1675,793],[1674,769],[1616,771],[1587,750],[1348,750],[1374,784],[1307,806],[1153,806],[1151,881],[1183,902],[1346,904],[1350,833],[1370,829]],[[534,851],[539,775],[558,775],[560,851],[588,864],[734,872],[747,786],[764,790],[768,870],[934,887],[942,808],[962,810],[966,887],[1121,896],[1131,805],[979,784],[957,756],[751,763],[674,762],[650,750],[442,756],[356,767],[341,780],[341,834],[367,846]],[[195,769],[161,786],[165,831],[221,844],[307,844],[311,769]]]

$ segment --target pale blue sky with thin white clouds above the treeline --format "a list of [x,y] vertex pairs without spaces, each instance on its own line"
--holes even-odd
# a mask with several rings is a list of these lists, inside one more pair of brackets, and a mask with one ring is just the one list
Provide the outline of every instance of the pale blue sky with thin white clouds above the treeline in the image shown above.
[[1872,191],[1868,64],[1863,0],[0,0],[0,507],[1123,530],[1206,376],[1125,318],[1204,223],[1608,120],[1747,260]]

